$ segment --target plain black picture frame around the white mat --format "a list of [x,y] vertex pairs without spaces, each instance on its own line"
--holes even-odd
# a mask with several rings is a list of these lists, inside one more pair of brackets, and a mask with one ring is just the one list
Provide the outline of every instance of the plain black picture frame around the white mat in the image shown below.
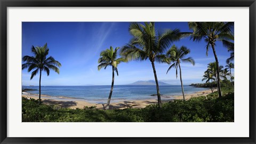
[[[255,0],[0,0],[0,143],[255,143]],[[7,137],[7,7],[250,7],[249,138],[11,138]],[[18,129],[18,127],[17,127]]]

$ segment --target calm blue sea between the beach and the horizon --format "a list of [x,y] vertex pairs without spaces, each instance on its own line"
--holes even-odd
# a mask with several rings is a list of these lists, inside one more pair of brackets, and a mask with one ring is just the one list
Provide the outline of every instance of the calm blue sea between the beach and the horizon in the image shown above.
[[[41,94],[49,95],[55,98],[74,98],[84,99],[95,103],[106,103],[110,91],[110,85],[95,86],[41,86]],[[36,89],[37,91],[28,91],[31,94],[38,94],[38,86],[22,86],[22,89]],[[160,93],[164,95],[182,95],[180,85],[160,85]],[[185,94],[203,91],[207,88],[199,88],[193,86],[184,86]],[[156,99],[155,85],[115,85],[111,102],[123,100],[138,99]],[[162,98],[164,99],[164,97]],[[169,98],[170,99],[170,98]]]

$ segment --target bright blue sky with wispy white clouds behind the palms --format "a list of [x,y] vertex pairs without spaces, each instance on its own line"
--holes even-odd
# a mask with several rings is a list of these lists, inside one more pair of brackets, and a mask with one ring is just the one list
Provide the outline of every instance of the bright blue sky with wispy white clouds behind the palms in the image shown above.
[[[130,22],[22,22],[22,57],[33,55],[31,46],[43,46],[47,43],[49,56],[58,60],[60,74],[50,71],[50,76],[42,74],[41,85],[111,85],[111,68],[98,71],[98,59],[102,50],[110,46],[122,47],[131,39],[128,31]],[[156,22],[156,29],[179,28],[180,31],[191,31],[187,22]],[[176,46],[187,46],[193,57],[195,66],[181,63],[184,84],[202,83],[202,76],[207,64],[214,62],[212,50],[206,56],[206,43],[193,42],[189,38],[174,42]],[[226,59],[230,53],[221,43],[215,47],[220,65],[226,66]],[[180,79],[165,63],[155,63],[159,81],[180,85]],[[153,69],[149,60],[130,61],[118,65],[119,76],[115,77],[115,84],[130,84],[136,81],[154,80]],[[234,75],[234,70],[232,71]],[[22,85],[39,85],[39,74],[30,80],[31,72],[22,70]]]

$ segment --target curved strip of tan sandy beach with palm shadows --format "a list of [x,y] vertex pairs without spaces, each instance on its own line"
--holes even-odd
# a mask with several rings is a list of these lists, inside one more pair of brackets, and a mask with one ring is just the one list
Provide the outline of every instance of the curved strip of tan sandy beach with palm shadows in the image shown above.
[[[214,89],[216,91],[216,89]],[[185,94],[186,100],[190,98],[205,96],[210,94],[211,90],[204,90],[195,92],[192,94]],[[29,94],[27,92],[22,93],[22,97],[28,99],[38,99],[38,95]],[[183,99],[182,95],[162,95],[162,102],[173,101],[174,99]],[[47,95],[41,95],[41,99],[46,105],[59,105],[62,108],[84,108],[84,106],[91,107],[96,106],[97,109],[105,109],[106,103],[90,103],[86,100],[81,99],[70,99],[70,98],[53,98]],[[107,100],[106,100],[107,101]],[[127,100],[127,101],[119,101],[111,103],[110,101],[110,109],[124,109],[124,108],[144,108],[147,105],[157,103],[157,97],[153,97],[152,99],[144,99],[144,100]]]

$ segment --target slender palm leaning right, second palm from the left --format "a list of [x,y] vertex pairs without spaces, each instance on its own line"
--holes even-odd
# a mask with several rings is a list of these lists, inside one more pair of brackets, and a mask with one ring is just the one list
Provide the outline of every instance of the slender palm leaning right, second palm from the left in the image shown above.
[[115,73],[114,71],[116,71],[116,75],[118,76],[118,70],[117,70],[117,66],[119,63],[121,62],[126,62],[126,60],[124,58],[117,58],[117,50],[119,49],[119,47],[116,47],[116,49],[114,50],[112,46],[110,46],[109,49],[106,49],[105,51],[102,51],[100,53],[100,58],[98,60],[98,70],[100,70],[101,68],[106,69],[108,66],[112,67],[112,83],[111,83],[111,89],[110,89],[110,93],[108,96],[108,102],[107,102],[107,106],[106,109],[109,109],[109,104],[110,104],[110,99],[112,96],[112,92],[114,89],[114,78],[115,78]]

